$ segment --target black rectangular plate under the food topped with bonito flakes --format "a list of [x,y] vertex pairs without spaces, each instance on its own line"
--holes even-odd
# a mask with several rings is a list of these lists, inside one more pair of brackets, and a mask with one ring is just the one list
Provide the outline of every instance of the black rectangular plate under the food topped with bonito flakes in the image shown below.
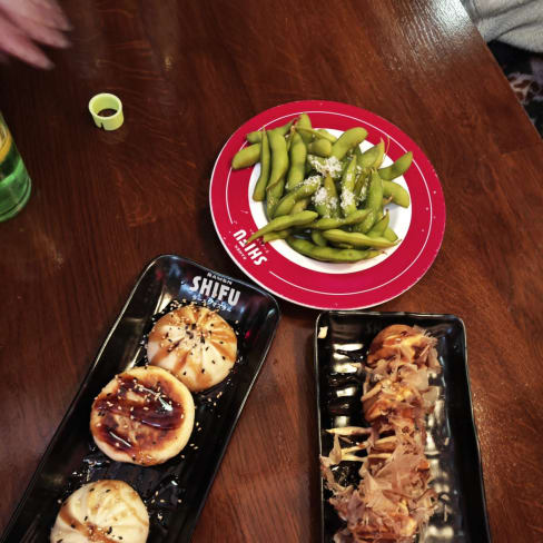
[[[372,339],[393,324],[421,326],[437,338],[443,372],[431,384],[440,387],[435,412],[427,421],[427,457],[431,485],[440,495],[440,507],[428,526],[418,535],[419,543],[485,543],[491,541],[483,473],[467,373],[464,323],[453,315],[415,313],[325,312],[316,323],[315,369],[319,454],[328,455],[333,437],[326,428],[367,426],[362,412],[363,377],[349,357],[340,352],[355,351],[365,358]],[[327,326],[326,337],[318,332]],[[353,354],[351,355],[353,356]],[[355,356],[356,358],[356,356]],[[357,484],[358,463],[340,465],[344,482]],[[329,491],[320,481],[323,542],[333,541],[342,521],[328,503]],[[446,506],[446,514],[444,507]]]

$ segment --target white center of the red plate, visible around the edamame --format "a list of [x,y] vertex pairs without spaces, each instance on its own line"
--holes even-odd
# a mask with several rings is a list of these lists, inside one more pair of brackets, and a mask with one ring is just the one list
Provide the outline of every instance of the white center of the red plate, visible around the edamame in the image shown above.
[[[343,134],[340,130],[334,130],[330,128],[327,128],[327,130],[337,137]],[[363,151],[369,149],[371,147],[373,146],[368,141],[363,141],[361,144],[361,149]],[[392,162],[393,160],[385,155],[382,167],[389,166]],[[249,209],[253,219],[255,220],[256,226],[258,228],[261,228],[263,226],[268,224],[268,219],[265,213],[266,203],[255,201],[253,199],[253,191],[255,190],[255,185],[259,176],[260,176],[260,162],[257,162],[256,166],[253,168],[253,171],[250,172],[248,197],[249,197]],[[405,190],[407,190],[407,192],[409,191],[403,176],[394,179],[394,182],[402,185],[402,187],[404,187]],[[349,273],[361,272],[363,269],[369,269],[376,266],[377,264],[382,263],[386,258],[388,258],[399,247],[402,240],[405,239],[405,236],[407,235],[407,230],[409,229],[409,224],[411,224],[412,205],[407,209],[401,206],[396,206],[395,204],[386,207],[386,209],[388,209],[388,213],[391,214],[391,223],[388,226],[396,233],[401,241],[394,247],[384,249],[383,254],[381,254],[375,258],[371,258],[369,260],[359,260],[357,263],[346,263],[346,264],[322,263],[319,260],[314,260],[313,258],[308,258],[304,255],[300,255],[299,253],[296,253],[293,248],[288,246],[288,244],[284,239],[276,239],[274,241],[270,241],[270,244],[278,253],[280,253],[285,258],[287,258],[292,263],[295,263],[298,266],[302,266],[307,269],[313,269],[314,272],[320,272],[323,274],[349,274]]]

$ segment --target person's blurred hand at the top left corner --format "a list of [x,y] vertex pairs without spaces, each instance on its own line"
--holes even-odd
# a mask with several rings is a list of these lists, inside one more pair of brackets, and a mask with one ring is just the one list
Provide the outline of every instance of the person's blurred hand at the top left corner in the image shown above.
[[56,0],[0,0],[0,58],[11,55],[38,68],[52,62],[34,43],[66,48],[70,23]]

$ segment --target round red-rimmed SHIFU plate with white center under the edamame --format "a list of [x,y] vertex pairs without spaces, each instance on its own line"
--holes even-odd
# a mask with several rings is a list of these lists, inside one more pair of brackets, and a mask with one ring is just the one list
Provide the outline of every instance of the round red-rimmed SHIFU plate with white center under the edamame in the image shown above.
[[[272,129],[306,112],[315,128],[367,130],[364,146],[385,140],[385,165],[413,151],[413,165],[397,179],[411,195],[408,209],[389,206],[391,225],[402,243],[386,254],[355,264],[318,263],[298,255],[284,240],[246,239],[266,224],[263,205],[251,199],[259,165],[233,170],[231,158],[247,132]],[[295,304],[318,309],[362,309],[387,302],[412,287],[430,268],[445,229],[445,201],[437,176],[415,142],[387,120],[354,106],[297,101],[278,106],[243,125],[226,142],[211,175],[209,204],[217,234],[234,261],[256,283]]]

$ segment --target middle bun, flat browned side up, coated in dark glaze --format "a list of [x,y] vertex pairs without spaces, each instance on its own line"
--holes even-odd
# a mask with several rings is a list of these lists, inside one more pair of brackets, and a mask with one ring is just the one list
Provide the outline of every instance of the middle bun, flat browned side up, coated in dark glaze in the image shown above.
[[110,458],[148,466],[182,450],[194,415],[192,396],[179,379],[160,367],[134,367],[96,397],[90,431]]

